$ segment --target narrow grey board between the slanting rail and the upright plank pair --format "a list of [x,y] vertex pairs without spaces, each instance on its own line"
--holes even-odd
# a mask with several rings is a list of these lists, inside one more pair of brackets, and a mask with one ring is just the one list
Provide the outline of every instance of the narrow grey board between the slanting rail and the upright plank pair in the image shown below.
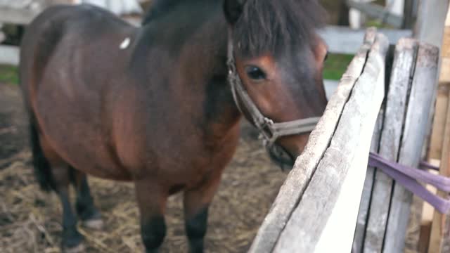
[[[384,108],[380,110],[378,119],[373,130],[371,152],[378,153],[380,146],[381,129],[383,127],[383,119],[385,117]],[[363,193],[361,195],[361,202],[359,203],[358,219],[356,220],[356,228],[353,239],[353,252],[361,252],[363,249],[364,234],[366,233],[366,221],[368,215],[368,208],[371,204],[371,195],[373,188],[373,177],[375,176],[375,168],[367,167],[366,179],[364,180]]]

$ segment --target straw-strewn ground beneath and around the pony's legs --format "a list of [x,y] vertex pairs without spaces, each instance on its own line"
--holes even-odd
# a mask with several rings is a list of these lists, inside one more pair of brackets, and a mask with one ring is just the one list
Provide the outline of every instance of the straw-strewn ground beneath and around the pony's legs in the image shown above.
[[[42,193],[34,181],[25,126],[18,89],[0,84],[0,252],[60,252],[62,209],[56,195]],[[254,137],[245,124],[212,202],[206,252],[246,252],[285,179]],[[86,252],[142,252],[133,185],[89,180],[105,228],[79,228]],[[166,219],[162,252],[186,252],[181,195],[169,199]]]

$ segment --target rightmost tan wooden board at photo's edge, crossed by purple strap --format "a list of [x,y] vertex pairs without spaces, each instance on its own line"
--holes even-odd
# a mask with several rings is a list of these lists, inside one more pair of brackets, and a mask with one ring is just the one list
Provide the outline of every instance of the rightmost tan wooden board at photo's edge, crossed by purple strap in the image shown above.
[[[447,105],[446,124],[443,138],[444,145],[442,146],[442,160],[439,168],[439,174],[442,176],[450,176],[450,103]],[[448,197],[448,194],[442,192],[439,192],[439,195],[441,197]],[[450,252],[450,219],[448,215],[435,211],[432,221],[428,252]]]

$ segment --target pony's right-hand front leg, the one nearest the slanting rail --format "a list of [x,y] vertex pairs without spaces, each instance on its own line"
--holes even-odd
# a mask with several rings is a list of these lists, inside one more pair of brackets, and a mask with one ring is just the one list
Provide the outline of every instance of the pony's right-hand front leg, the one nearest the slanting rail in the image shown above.
[[184,224],[189,241],[189,252],[203,252],[207,231],[208,208],[219,186],[220,176],[205,182],[203,186],[184,192]]

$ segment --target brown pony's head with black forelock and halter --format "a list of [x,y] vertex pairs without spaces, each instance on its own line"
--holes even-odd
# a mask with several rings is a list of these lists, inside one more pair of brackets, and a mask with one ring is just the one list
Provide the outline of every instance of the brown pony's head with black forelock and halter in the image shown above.
[[325,11],[315,0],[224,0],[224,13],[236,103],[266,137],[271,158],[292,167],[316,122],[299,119],[320,117],[327,103],[327,48],[316,34]]

